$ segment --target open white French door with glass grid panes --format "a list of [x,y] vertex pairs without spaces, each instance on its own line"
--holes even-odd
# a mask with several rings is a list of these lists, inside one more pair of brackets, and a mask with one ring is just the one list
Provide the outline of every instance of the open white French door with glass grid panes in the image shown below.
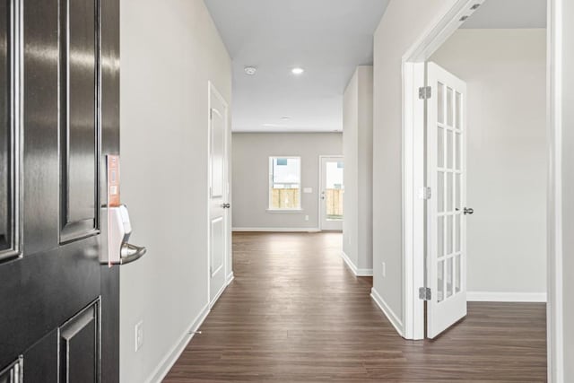
[[427,336],[466,316],[466,84],[427,65]]

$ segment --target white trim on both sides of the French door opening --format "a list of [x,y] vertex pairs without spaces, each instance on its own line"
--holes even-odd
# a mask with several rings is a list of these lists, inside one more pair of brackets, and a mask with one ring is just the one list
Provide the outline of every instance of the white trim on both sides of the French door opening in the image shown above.
[[[548,235],[548,303],[547,342],[548,380],[563,381],[563,292],[562,292],[562,4],[565,0],[548,1],[548,132],[549,177],[547,196]],[[424,109],[418,102],[418,88],[424,86],[424,62],[444,43],[460,25],[460,16],[469,14],[473,4],[483,0],[457,0],[450,9],[413,44],[403,57],[403,323],[404,338],[424,337],[423,302],[415,296],[424,285],[424,216],[420,213],[423,201],[417,198],[418,187],[424,186],[421,151]]]

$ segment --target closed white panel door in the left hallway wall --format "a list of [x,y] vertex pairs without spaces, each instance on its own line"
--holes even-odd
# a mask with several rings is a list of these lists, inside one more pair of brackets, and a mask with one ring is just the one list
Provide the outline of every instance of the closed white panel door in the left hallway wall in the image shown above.
[[226,285],[229,183],[228,107],[218,91],[209,87],[209,299],[217,300]]

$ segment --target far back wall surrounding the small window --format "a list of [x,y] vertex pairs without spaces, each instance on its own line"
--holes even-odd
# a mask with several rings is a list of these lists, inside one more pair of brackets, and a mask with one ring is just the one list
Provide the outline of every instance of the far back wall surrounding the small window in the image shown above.
[[[341,133],[233,133],[233,228],[317,229],[319,155],[341,155]],[[269,157],[300,156],[301,209],[270,213],[268,208]],[[309,215],[309,221],[305,216]]]

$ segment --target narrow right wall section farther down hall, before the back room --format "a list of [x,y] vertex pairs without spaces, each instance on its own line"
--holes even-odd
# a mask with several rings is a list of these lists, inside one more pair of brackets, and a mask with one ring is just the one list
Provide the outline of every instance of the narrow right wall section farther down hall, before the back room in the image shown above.
[[372,272],[373,67],[359,66],[344,91],[343,251],[362,273]]

